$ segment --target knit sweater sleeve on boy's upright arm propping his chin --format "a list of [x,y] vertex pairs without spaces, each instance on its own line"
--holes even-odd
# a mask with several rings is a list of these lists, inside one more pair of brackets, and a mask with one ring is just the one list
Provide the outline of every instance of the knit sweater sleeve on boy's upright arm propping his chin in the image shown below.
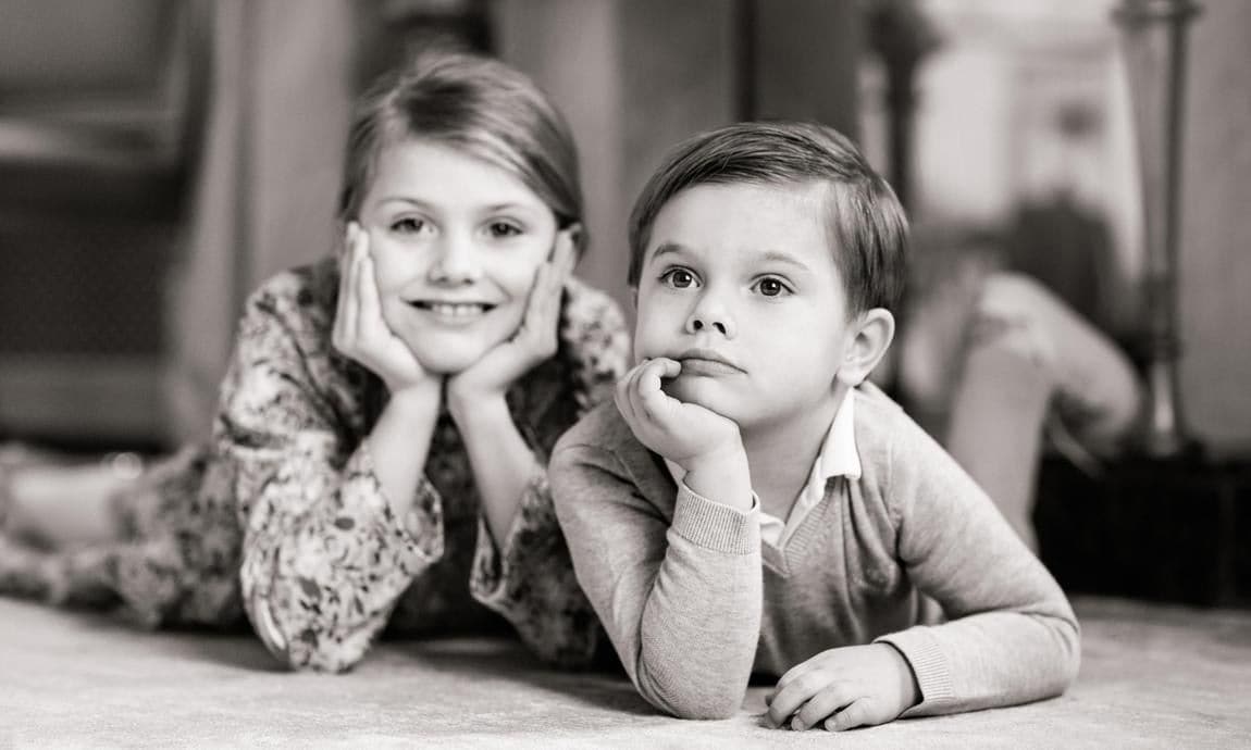
[[761,626],[759,510],[683,486],[669,524],[610,452],[573,441],[550,478],[578,581],[638,691],[679,718],[732,716]]

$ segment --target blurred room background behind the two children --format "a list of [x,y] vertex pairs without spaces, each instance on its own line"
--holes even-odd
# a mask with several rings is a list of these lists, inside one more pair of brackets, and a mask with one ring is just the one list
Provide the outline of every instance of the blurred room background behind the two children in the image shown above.
[[[1126,9],[1185,26],[1183,65],[1127,66]],[[1057,578],[1251,599],[1248,31],[1245,0],[0,0],[0,445],[204,438],[248,292],[335,246],[350,102],[450,40],[564,110],[579,274],[627,309],[626,218],[669,146],[742,119],[852,135],[909,210],[914,289],[990,248],[1176,396],[1183,440],[1156,455],[1043,460]],[[1135,78],[1185,94],[1152,141]],[[1143,142],[1172,202],[1145,200],[1168,172],[1143,180]],[[1161,280],[1143,226],[1173,209]]]

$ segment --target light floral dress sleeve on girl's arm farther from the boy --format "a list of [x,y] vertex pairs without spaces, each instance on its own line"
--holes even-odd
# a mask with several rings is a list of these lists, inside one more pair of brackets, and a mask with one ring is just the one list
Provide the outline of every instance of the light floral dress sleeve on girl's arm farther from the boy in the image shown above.
[[314,378],[328,336],[310,326],[281,295],[253,296],[214,438],[244,529],[253,628],[293,668],[342,671],[442,556],[442,501],[423,479],[405,518],[390,510],[368,441],[352,438]]

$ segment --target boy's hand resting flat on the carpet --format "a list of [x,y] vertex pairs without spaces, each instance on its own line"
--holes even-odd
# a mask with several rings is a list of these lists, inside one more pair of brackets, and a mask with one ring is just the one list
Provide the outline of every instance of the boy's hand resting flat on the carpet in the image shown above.
[[766,696],[771,726],[831,731],[886,724],[916,705],[921,690],[908,661],[887,644],[822,651],[782,675]]

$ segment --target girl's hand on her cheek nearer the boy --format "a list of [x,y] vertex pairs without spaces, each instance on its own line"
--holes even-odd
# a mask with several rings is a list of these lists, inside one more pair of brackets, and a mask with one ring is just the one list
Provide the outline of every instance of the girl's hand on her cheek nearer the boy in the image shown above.
[[463,408],[502,398],[513,381],[555,355],[560,294],[574,264],[573,231],[557,234],[552,260],[535,272],[525,315],[513,336],[448,379],[448,408],[453,416]]

